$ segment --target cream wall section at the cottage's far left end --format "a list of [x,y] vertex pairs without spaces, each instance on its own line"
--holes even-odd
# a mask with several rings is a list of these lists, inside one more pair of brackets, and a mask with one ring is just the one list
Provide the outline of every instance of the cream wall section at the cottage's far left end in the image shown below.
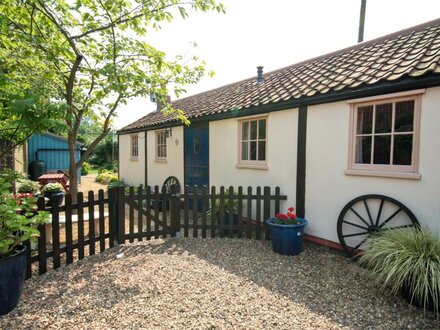
[[145,184],[145,132],[138,134],[139,156],[132,159],[130,134],[119,135],[119,179],[138,186]]

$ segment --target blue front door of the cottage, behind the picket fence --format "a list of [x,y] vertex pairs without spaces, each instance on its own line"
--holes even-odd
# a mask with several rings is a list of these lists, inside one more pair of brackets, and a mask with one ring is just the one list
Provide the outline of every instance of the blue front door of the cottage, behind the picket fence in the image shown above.
[[209,124],[185,127],[185,185],[209,186]]

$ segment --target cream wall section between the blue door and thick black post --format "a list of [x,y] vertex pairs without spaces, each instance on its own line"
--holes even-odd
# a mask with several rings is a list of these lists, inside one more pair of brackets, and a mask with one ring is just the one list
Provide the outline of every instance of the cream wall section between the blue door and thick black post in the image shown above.
[[[264,115],[264,114],[263,114]],[[297,109],[271,112],[268,115],[267,170],[237,168],[238,119],[209,123],[209,184],[211,186],[277,186],[288,201],[281,203],[283,211],[295,206]],[[243,119],[243,118],[239,118]],[[272,190],[273,191],[273,190]]]

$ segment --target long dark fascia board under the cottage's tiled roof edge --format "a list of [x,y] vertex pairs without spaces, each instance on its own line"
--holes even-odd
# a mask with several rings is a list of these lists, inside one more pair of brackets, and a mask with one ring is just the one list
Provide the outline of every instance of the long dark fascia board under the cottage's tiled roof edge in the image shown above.
[[[344,89],[342,91],[331,91],[326,94],[313,95],[308,97],[302,97],[299,99],[287,100],[277,103],[263,104],[259,106],[253,106],[249,108],[242,108],[236,112],[226,111],[219,114],[206,115],[198,118],[189,118],[191,122],[204,122],[215,121],[230,118],[246,117],[258,114],[265,114],[273,111],[281,111],[292,108],[298,108],[299,106],[313,106],[324,103],[332,103],[344,100],[352,100],[357,98],[363,98],[368,96],[379,96],[383,94],[390,94],[396,92],[404,92],[411,89],[420,89],[440,86],[440,74],[426,74],[421,78],[409,78],[385,81],[382,83],[374,84],[371,86],[362,86],[356,89]],[[132,130],[126,130],[118,132],[118,135],[131,134],[136,132],[152,131],[167,127],[182,126],[183,123],[177,120],[166,122],[162,124],[135,128]]]

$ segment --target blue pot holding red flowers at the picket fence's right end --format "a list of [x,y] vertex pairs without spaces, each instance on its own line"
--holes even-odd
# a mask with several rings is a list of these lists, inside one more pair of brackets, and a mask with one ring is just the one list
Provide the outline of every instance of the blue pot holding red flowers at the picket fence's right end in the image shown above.
[[275,253],[282,255],[297,255],[304,250],[304,227],[307,226],[306,219],[298,218],[298,225],[278,225],[275,219],[266,221],[270,227],[272,237],[272,248]]

